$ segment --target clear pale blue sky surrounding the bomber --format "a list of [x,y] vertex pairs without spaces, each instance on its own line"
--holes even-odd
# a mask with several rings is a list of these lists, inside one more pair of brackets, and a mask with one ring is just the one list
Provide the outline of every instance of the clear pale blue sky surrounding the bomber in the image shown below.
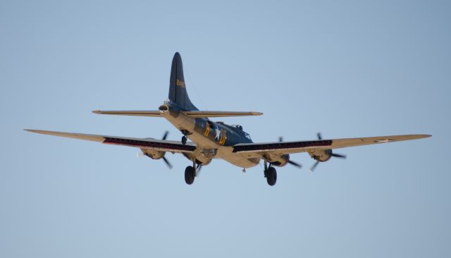
[[[0,257],[450,257],[450,1],[0,1]],[[182,55],[201,109],[255,142],[428,133],[185,185],[137,149],[23,128],[179,140],[156,109]]]

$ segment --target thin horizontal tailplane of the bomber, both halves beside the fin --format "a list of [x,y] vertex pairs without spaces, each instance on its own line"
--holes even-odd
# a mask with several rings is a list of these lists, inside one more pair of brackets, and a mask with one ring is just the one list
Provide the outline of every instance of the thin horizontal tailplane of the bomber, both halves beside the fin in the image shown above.
[[[159,117],[160,111],[158,110],[94,110],[92,113],[99,113],[102,115],[119,115],[119,116],[154,116]],[[186,116],[190,118],[207,118],[207,117],[225,117],[225,116],[261,116],[260,112],[242,112],[242,111],[183,111]]]

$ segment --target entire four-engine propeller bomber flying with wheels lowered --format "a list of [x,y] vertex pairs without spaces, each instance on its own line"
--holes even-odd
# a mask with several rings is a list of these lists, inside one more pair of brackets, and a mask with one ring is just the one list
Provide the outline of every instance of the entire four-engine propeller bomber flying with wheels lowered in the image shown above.
[[[131,138],[106,135],[87,135],[82,133],[63,133],[48,130],[30,130],[32,133],[44,135],[56,135],[80,140],[90,140],[108,145],[125,145],[138,147],[142,154],[151,159],[163,159],[166,152],[183,154],[192,161],[192,166],[185,168],[185,182],[191,185],[197,176],[201,166],[208,165],[211,159],[225,159],[226,161],[243,168],[257,166],[261,159],[264,161],[264,176],[268,185],[275,185],[277,173],[275,166],[292,164],[301,167],[290,160],[290,154],[307,152],[316,163],[328,161],[330,157],[345,158],[345,155],[333,153],[333,149],[353,147],[360,145],[373,145],[385,142],[397,142],[414,140],[431,135],[391,135],[378,137],[360,137],[323,140],[318,134],[318,140],[254,143],[241,125],[227,125],[222,122],[214,122],[211,117],[225,116],[260,116],[259,112],[229,112],[229,111],[199,111],[188,97],[185,79],[183,78],[183,66],[180,54],[175,53],[172,60],[171,78],[169,84],[169,98],[159,106],[156,111],[93,111],[94,113],[122,116],[154,116],[166,118],[175,128],[183,133],[181,142],[166,140],[167,132],[162,140],[154,138]],[[192,142],[187,142],[187,137]]]

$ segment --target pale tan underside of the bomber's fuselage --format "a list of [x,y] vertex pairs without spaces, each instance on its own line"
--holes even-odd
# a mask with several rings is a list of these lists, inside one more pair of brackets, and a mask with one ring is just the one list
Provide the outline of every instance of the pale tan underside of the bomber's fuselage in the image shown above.
[[233,147],[218,145],[217,142],[210,140],[201,133],[198,133],[196,130],[194,130],[196,124],[194,118],[189,118],[183,113],[178,114],[178,116],[176,117],[171,116],[171,114],[169,113],[165,113],[163,114],[163,116],[170,123],[172,123],[175,128],[178,128],[178,130],[187,130],[188,132],[190,132],[191,134],[187,135],[187,137],[189,137],[192,142],[196,143],[199,148],[217,149],[216,156],[214,156],[214,158],[224,159],[230,164],[239,166],[240,168],[251,168],[259,164],[259,159],[247,158],[246,156],[243,156],[243,154],[234,153]]

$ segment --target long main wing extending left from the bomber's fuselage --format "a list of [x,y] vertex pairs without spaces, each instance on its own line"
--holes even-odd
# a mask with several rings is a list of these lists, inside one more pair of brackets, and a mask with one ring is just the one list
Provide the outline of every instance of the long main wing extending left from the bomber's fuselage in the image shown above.
[[68,137],[80,140],[89,140],[94,142],[101,142],[107,145],[124,145],[130,147],[139,147],[145,149],[155,149],[162,152],[194,152],[196,145],[187,142],[182,145],[180,142],[168,140],[156,140],[153,138],[130,138],[106,135],[87,135],[84,133],[64,133],[47,130],[32,130],[24,129],[31,133],[40,133],[42,135],[55,135],[61,137]]

